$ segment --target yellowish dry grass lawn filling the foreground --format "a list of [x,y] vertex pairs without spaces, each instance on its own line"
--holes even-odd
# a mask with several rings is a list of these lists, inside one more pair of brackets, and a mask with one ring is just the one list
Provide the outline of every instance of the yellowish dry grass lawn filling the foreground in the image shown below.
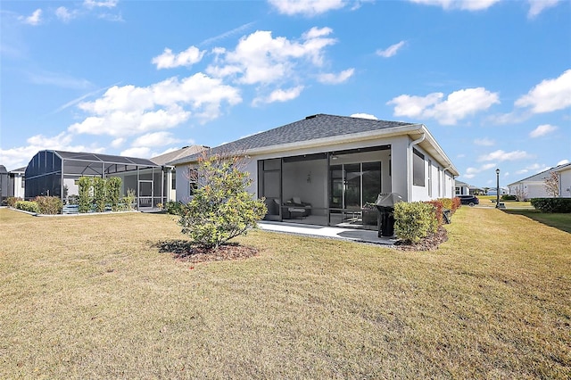
[[0,378],[561,378],[571,235],[462,207],[433,252],[253,231],[159,253],[169,215],[0,209]]

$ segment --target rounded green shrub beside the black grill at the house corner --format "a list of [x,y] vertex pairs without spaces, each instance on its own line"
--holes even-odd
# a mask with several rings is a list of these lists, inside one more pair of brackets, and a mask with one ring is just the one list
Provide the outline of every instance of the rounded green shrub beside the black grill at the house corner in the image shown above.
[[426,202],[399,202],[394,205],[394,234],[406,243],[418,243],[438,228],[434,206]]

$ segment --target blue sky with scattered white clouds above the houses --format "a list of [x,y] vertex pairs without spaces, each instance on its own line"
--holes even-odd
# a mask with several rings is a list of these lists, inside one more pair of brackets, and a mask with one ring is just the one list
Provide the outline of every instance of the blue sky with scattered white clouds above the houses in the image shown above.
[[501,186],[571,160],[568,0],[2,1],[0,163],[152,157],[316,113],[419,122]]

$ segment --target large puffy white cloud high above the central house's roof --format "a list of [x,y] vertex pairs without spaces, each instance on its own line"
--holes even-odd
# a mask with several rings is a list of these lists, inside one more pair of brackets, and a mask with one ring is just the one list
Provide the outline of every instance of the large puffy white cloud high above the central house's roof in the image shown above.
[[242,37],[234,51],[217,49],[217,59],[206,72],[219,78],[235,76],[247,85],[283,81],[295,76],[303,60],[314,67],[322,66],[324,49],[336,42],[327,37],[332,32],[329,28],[312,28],[295,41],[258,30]]

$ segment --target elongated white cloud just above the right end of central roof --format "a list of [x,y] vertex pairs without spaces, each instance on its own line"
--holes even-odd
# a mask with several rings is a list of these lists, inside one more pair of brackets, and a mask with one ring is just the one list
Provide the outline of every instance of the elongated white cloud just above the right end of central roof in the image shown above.
[[458,120],[487,110],[494,103],[500,103],[498,94],[484,87],[455,91],[446,100],[443,97],[443,93],[400,95],[386,104],[394,104],[394,116],[432,118],[443,125],[454,125]]

